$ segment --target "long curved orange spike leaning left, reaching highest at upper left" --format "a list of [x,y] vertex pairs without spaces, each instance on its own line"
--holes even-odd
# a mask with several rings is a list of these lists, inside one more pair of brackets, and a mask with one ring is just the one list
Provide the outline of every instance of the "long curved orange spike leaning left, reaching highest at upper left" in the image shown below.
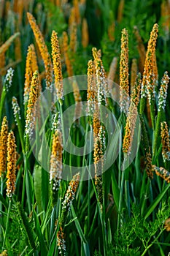
[[34,32],[36,38],[36,43],[39,47],[40,54],[45,64],[45,78],[47,89],[50,89],[53,81],[53,66],[50,58],[50,53],[48,53],[47,46],[45,45],[45,40],[42,36],[42,32],[39,30],[39,26],[36,25],[36,20],[31,13],[27,12],[28,21],[30,23],[31,29]]

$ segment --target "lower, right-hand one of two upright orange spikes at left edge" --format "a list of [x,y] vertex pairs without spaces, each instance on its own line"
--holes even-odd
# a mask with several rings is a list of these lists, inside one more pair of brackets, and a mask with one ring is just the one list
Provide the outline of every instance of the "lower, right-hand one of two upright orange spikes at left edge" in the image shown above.
[[12,197],[15,193],[16,162],[15,136],[13,132],[9,132],[7,138],[7,197]]

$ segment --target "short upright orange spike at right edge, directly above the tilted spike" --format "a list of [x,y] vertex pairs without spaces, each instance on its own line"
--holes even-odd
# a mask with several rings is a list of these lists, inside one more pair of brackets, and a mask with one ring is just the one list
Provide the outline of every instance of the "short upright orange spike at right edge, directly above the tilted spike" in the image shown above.
[[166,121],[161,123],[161,143],[162,143],[162,156],[163,161],[170,160],[170,141],[169,141],[169,129]]

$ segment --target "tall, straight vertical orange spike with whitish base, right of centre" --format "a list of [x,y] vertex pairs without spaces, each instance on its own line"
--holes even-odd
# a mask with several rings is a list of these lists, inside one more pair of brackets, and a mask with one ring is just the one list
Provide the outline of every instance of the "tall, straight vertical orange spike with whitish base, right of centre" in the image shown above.
[[128,31],[123,29],[120,53],[120,111],[127,113],[129,105],[128,86]]

